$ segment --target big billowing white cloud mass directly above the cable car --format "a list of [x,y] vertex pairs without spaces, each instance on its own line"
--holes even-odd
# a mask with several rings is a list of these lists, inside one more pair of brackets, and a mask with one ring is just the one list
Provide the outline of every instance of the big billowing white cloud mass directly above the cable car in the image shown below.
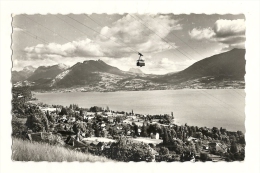
[[114,22],[112,26],[103,27],[99,40],[109,42],[112,39],[122,44],[124,49],[130,47],[144,53],[157,53],[176,48],[173,42],[167,41],[168,44],[163,39],[173,30],[179,29],[182,29],[182,26],[168,15],[128,14]]

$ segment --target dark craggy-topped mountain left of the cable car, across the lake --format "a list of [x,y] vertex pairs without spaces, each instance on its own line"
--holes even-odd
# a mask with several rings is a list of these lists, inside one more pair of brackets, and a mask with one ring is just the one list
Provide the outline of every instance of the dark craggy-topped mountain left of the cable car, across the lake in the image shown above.
[[58,78],[52,85],[57,87],[71,87],[96,84],[102,80],[101,74],[103,73],[119,76],[127,75],[118,68],[110,66],[101,60],[89,60],[77,63],[68,70],[66,73],[64,72],[64,75],[57,76]]

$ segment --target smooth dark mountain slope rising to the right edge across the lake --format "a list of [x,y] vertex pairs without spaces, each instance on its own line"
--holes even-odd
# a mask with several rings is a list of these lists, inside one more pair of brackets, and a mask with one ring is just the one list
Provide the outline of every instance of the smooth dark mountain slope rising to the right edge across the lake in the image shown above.
[[207,76],[218,80],[244,80],[245,64],[245,49],[233,49],[202,59],[183,71],[165,75],[161,80],[180,82]]

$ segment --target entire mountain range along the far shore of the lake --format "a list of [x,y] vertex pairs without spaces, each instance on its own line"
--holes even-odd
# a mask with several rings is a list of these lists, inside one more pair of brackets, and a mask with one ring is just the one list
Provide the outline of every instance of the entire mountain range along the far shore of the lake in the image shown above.
[[[80,88],[81,91],[153,90],[244,87],[245,49],[233,49],[202,59],[166,75],[144,74],[139,68],[122,71],[101,60],[25,67],[12,72],[12,82],[28,81],[32,89]],[[28,83],[27,82],[27,83]],[[33,84],[32,84],[33,83]],[[21,84],[21,82],[19,83]],[[19,86],[19,85],[18,85]]]

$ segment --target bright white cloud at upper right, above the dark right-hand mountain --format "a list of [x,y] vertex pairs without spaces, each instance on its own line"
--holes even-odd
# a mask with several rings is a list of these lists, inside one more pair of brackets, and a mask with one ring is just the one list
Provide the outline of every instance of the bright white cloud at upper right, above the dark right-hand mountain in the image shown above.
[[[207,40],[219,42],[225,45],[225,48],[244,48],[245,45],[245,20],[217,20],[213,28],[193,28],[189,35],[194,40]],[[227,45],[227,46],[226,46]]]

